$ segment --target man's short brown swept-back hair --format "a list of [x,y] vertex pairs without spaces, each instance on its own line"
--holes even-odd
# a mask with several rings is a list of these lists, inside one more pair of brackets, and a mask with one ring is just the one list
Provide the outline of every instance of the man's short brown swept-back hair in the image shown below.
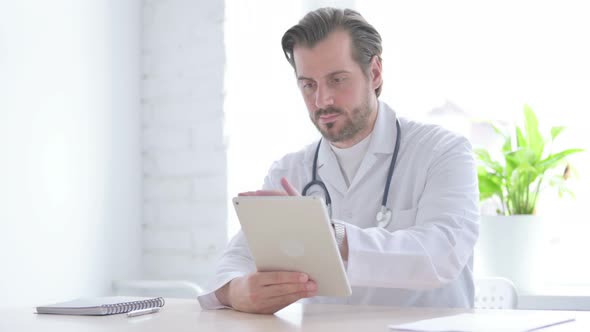
[[[287,30],[281,44],[287,61],[295,68],[293,49],[296,45],[314,47],[332,31],[342,29],[349,33],[352,41],[352,58],[368,76],[371,59],[377,56],[381,61],[381,35],[357,11],[352,9],[320,8],[307,13],[298,24]],[[377,97],[381,86],[375,89]]]

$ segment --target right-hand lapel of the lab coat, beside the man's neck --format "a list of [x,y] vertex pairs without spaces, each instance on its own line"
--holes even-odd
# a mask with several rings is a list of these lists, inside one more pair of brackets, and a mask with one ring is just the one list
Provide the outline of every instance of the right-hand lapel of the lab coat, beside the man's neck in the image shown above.
[[395,116],[395,112],[387,104],[379,102],[379,111],[377,113],[375,127],[373,127],[369,149],[350,184],[349,190],[354,189],[371,172],[371,169],[379,160],[380,155],[386,154],[388,158],[391,158],[393,155],[395,137],[397,135]]

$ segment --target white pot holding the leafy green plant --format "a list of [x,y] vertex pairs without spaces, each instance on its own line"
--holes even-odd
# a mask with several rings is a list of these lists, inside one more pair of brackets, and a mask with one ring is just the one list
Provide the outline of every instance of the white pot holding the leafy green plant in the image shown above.
[[522,294],[538,287],[543,248],[550,231],[539,216],[482,216],[475,246],[476,277],[499,276],[512,280]]

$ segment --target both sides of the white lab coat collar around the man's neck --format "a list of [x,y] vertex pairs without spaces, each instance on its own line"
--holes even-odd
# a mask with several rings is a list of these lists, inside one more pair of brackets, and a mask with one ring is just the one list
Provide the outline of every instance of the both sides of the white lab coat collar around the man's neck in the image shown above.
[[353,189],[357,183],[370,172],[371,168],[378,160],[379,154],[388,154],[390,156],[393,154],[397,135],[395,118],[395,112],[387,104],[379,101],[377,120],[373,127],[371,142],[369,143],[367,154],[363,158],[359,170],[349,188],[346,187],[346,181],[344,180],[344,175],[338,165],[336,155],[334,155],[334,152],[330,148],[329,142],[323,139],[318,156],[318,175],[320,179],[322,179],[326,185],[334,187],[341,193],[346,193],[348,190]]

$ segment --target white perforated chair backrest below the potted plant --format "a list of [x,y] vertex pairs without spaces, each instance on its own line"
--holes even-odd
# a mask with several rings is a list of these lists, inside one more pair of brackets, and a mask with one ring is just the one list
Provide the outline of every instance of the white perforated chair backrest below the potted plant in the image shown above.
[[516,309],[518,293],[512,281],[501,277],[475,279],[476,309]]

